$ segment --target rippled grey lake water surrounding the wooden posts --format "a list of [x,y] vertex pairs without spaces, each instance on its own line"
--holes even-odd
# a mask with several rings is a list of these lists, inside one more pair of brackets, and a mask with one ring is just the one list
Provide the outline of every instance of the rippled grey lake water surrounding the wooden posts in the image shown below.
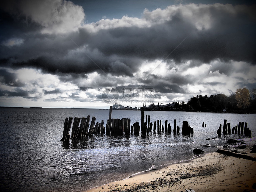
[[[256,132],[255,114],[154,112],[145,111],[153,123],[157,119],[174,119],[182,129],[188,121],[194,128],[191,137],[181,134],[153,133],[149,136],[93,135],[82,141],[62,142],[65,117],[96,117],[108,119],[109,110],[0,108],[0,189],[1,191],[79,191],[111,181],[127,178],[140,171],[157,168],[195,157],[193,149],[215,152],[229,138],[244,135],[227,134],[215,140],[224,119],[231,128],[247,122]],[[131,124],[141,122],[141,111],[113,111],[112,118],[130,118]],[[205,122],[207,127],[202,127]],[[72,127],[71,127],[72,129]],[[70,130],[71,133],[71,130]],[[211,147],[202,145],[211,144]]]

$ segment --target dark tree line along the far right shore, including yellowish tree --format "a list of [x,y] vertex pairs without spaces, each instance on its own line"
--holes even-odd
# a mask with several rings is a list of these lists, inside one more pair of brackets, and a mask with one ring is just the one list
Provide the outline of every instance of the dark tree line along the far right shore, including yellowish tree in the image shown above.
[[[256,89],[248,90],[239,88],[235,93],[229,96],[224,94],[216,94],[211,96],[197,95],[188,100],[188,103],[177,103],[179,108],[186,111],[244,111],[248,113],[256,112]],[[177,106],[178,107],[178,106]]]

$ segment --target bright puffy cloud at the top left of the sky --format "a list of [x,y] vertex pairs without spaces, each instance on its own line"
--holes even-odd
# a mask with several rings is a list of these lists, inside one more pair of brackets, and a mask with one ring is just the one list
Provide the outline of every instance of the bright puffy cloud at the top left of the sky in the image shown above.
[[66,0],[9,0],[6,9],[13,15],[25,16],[27,22],[39,24],[43,34],[76,31],[85,20],[83,8]]

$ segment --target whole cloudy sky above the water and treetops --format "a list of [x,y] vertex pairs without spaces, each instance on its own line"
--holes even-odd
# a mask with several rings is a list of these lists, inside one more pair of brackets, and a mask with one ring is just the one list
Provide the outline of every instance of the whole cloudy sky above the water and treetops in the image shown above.
[[255,10],[229,0],[4,1],[0,106],[141,107],[256,88]]

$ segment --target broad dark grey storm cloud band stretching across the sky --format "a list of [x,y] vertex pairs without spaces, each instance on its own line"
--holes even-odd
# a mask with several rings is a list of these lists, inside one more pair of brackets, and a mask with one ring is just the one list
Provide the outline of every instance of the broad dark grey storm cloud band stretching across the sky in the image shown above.
[[[163,59],[187,36],[168,59],[176,62],[197,60],[199,64],[218,58],[254,64],[256,20],[251,14],[254,8],[187,5],[169,12],[167,8],[167,13],[159,12],[157,16],[145,12],[143,19],[150,24],[147,27],[124,24],[90,32],[90,28],[85,26],[69,35],[41,34],[31,30],[34,33],[32,37],[21,34],[24,38],[22,45],[9,50],[1,45],[1,59],[8,61],[1,64],[39,68],[53,74],[101,73],[103,70],[113,75],[132,77],[142,60]],[[187,10],[191,11],[194,19],[208,17],[209,21],[202,21],[198,27],[197,21],[186,16]],[[166,17],[171,19],[166,20]],[[161,19],[164,21],[157,22]],[[10,23],[13,26],[26,25],[20,24],[19,20],[10,20]],[[27,23],[35,22],[28,20]]]

